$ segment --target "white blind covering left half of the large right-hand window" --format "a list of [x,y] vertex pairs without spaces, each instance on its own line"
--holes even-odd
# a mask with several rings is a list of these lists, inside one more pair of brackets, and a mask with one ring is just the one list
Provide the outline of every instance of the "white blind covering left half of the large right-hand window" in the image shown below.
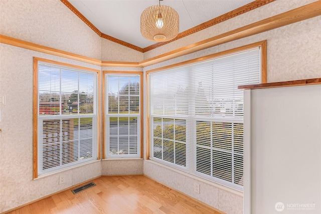
[[150,81],[151,158],[188,168],[189,75],[187,68],[152,73]]

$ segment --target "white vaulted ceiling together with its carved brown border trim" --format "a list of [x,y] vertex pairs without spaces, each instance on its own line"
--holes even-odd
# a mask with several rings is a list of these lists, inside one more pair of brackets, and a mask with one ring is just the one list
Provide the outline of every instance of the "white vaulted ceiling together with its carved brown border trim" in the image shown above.
[[[274,0],[164,0],[180,17],[178,38],[211,27],[226,19]],[[162,43],[146,40],[140,33],[140,15],[158,0],[61,0],[99,36],[145,52]]]

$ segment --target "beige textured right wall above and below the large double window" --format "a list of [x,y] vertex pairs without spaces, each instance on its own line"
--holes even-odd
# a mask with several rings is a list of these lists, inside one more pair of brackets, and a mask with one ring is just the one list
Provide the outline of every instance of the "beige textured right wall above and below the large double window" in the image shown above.
[[[268,4],[267,6],[263,6],[259,9],[220,23],[219,25],[213,26],[206,31],[204,30],[198,32],[197,34],[203,35],[203,33],[205,33],[208,38],[210,38],[311,2],[314,1],[278,0]],[[148,71],[154,68],[160,68],[163,66],[195,59],[197,57],[207,56],[213,53],[267,40],[268,82],[319,78],[321,77],[321,49],[319,48],[321,47],[320,23],[321,17],[315,17],[251,37],[151,65],[145,67],[143,70]],[[153,57],[164,52],[175,50],[178,47],[198,42],[200,40],[197,41],[197,38],[195,38],[197,37],[197,34],[175,41],[170,45],[162,46],[156,50],[151,50],[148,53],[144,53],[144,57]],[[199,38],[203,39],[203,37]],[[146,128],[147,127],[145,127],[145,129]],[[181,175],[181,173],[178,171],[160,166],[153,161],[144,162],[144,174],[184,193],[190,194],[191,196],[203,202],[209,203],[210,205],[219,208],[228,214],[243,213],[243,198],[231,191],[225,191],[224,189],[206,184],[205,189],[212,190],[204,192],[201,191],[200,194],[195,195],[193,192],[193,183],[200,182],[198,179],[189,175]],[[166,176],[162,176],[164,174],[166,174]],[[180,180],[184,180],[184,184],[179,182]],[[201,183],[201,186],[202,185],[203,184]]]

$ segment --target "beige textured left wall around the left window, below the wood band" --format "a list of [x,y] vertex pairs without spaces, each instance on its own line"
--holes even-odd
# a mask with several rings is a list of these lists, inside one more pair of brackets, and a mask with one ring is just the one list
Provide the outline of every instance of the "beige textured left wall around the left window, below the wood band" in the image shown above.
[[[101,175],[101,162],[33,180],[33,57],[100,69],[73,60],[0,44],[0,212]],[[5,53],[5,54],[3,54]],[[59,176],[66,183],[59,185]]]

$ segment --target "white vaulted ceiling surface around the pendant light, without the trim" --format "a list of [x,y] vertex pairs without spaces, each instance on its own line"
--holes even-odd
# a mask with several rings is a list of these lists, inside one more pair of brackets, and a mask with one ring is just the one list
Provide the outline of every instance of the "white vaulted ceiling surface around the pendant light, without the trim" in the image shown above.
[[[140,15],[158,0],[69,0],[101,33],[131,45],[153,45],[141,36]],[[253,0],[164,0],[180,17],[180,33],[247,5]]]

